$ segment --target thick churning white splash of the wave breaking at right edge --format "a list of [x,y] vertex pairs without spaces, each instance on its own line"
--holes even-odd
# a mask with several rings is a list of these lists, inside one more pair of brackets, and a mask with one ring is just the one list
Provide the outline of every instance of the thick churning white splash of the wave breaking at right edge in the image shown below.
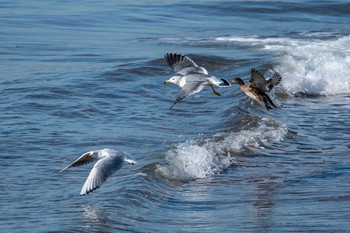
[[[350,93],[350,37],[286,47],[278,69],[290,94]],[[270,47],[274,50],[275,48]]]

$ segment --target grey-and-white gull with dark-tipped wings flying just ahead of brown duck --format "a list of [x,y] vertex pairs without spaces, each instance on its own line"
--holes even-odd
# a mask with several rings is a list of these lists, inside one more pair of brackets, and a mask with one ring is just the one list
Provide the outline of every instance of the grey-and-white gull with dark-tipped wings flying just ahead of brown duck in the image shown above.
[[200,92],[205,86],[210,86],[215,95],[221,96],[220,93],[214,89],[213,85],[218,87],[228,87],[231,85],[223,78],[219,79],[215,76],[208,75],[208,71],[205,68],[198,66],[187,56],[177,53],[167,53],[164,59],[175,73],[179,74],[165,80],[164,84],[173,83],[181,87],[181,91],[170,109],[185,97]]

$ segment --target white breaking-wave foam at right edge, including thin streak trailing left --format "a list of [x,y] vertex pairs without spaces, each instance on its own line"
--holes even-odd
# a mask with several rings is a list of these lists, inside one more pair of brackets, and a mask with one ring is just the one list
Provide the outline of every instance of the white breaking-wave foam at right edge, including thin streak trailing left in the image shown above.
[[350,36],[338,39],[291,39],[218,37],[275,54],[282,73],[281,86],[291,95],[337,95],[350,93]]

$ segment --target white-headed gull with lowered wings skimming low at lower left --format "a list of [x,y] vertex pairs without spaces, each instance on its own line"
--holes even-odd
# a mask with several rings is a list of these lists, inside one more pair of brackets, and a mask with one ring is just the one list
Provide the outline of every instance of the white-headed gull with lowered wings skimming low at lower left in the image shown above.
[[87,163],[96,162],[81,189],[80,195],[82,196],[99,188],[108,177],[113,175],[123,166],[124,162],[131,165],[136,163],[136,161],[129,159],[128,157],[131,157],[131,155],[126,152],[115,151],[108,148],[103,150],[93,150],[84,153],[60,172],[63,172],[70,167],[77,167]]

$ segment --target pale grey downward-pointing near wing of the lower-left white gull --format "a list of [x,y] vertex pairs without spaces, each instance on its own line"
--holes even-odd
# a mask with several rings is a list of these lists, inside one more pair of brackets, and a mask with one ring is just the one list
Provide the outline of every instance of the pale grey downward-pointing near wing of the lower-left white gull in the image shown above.
[[80,195],[88,194],[99,188],[108,177],[113,175],[123,166],[123,163],[124,157],[120,155],[107,156],[97,161],[88,178],[85,180]]

